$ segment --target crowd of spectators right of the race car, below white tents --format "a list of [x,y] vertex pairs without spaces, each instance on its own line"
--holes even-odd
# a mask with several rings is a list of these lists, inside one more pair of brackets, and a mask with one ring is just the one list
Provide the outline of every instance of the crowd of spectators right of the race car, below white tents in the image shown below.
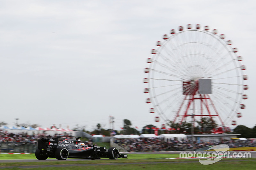
[[131,138],[116,139],[114,142],[123,147],[127,152],[191,151],[218,144],[227,144],[230,148],[256,146],[256,141],[254,140],[194,142],[193,144],[191,140],[177,140],[175,138],[172,138],[172,140],[166,142],[163,138]]

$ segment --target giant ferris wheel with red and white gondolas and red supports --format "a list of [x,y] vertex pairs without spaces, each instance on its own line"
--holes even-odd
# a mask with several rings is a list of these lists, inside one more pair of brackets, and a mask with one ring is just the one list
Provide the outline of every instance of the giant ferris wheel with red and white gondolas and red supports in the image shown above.
[[206,116],[221,126],[235,126],[248,98],[246,67],[237,54],[232,41],[209,26],[188,24],[164,34],[144,70],[149,112],[158,113],[165,122]]

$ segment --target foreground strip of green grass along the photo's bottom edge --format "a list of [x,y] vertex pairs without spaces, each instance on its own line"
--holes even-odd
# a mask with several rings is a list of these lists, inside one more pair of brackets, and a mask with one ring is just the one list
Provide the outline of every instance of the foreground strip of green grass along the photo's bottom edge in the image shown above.
[[[225,170],[234,170],[234,169],[255,169],[256,168],[256,162],[254,160],[247,160],[247,161],[219,161],[217,163],[211,164],[211,165],[202,165],[198,161],[161,161],[159,159],[158,161],[152,162],[148,160],[140,160],[140,161],[128,161],[126,159],[126,162],[118,161],[118,160],[109,160],[109,161],[54,161],[48,164],[44,164],[44,162],[33,162],[33,163],[15,163],[12,165],[2,165],[1,166],[9,166],[8,169],[23,169],[18,168],[17,166],[22,165],[64,165],[64,164],[84,164],[82,166],[62,166],[62,167],[40,167],[40,168],[29,168],[31,170],[33,169],[39,169],[39,170],[70,170],[70,168],[76,169],[76,170],[84,170],[84,169],[93,169],[93,170],[109,170],[109,169],[122,169],[122,170],[134,170],[134,169],[177,169],[177,170],[184,170],[184,169],[191,169],[191,170],[198,170],[198,169],[205,169],[205,170],[216,170],[216,169],[225,169]],[[123,162],[123,163],[122,163]],[[131,163],[133,164],[131,164]],[[140,162],[139,164],[134,164],[134,162]],[[143,162],[144,164],[142,164]],[[95,163],[109,163],[109,165],[92,165]],[[111,163],[122,163],[120,165],[111,165]],[[126,163],[126,164],[124,164]],[[90,164],[90,165],[89,165]],[[13,166],[13,167],[10,167]]]

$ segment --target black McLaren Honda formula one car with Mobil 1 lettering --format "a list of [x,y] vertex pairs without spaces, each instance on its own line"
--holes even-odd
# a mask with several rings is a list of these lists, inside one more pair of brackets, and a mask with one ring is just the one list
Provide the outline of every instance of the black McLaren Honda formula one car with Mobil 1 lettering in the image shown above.
[[38,139],[38,145],[35,152],[36,158],[45,160],[56,158],[66,160],[68,158],[76,159],[100,159],[100,158],[128,158],[126,154],[119,154],[116,147],[106,149],[102,146],[85,145],[80,143],[80,137],[75,139],[65,139],[59,143],[58,138],[41,138]]

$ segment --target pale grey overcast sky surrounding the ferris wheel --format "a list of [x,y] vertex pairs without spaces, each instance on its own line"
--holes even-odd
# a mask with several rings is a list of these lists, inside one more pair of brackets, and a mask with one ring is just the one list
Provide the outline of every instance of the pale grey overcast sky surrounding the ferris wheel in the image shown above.
[[[171,29],[201,24],[225,33],[244,58],[246,109],[254,127],[256,2],[172,0],[0,1],[0,122],[93,130],[160,127],[143,78],[150,50]],[[111,125],[112,127],[112,125]]]

